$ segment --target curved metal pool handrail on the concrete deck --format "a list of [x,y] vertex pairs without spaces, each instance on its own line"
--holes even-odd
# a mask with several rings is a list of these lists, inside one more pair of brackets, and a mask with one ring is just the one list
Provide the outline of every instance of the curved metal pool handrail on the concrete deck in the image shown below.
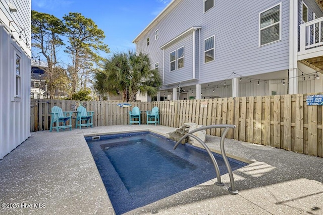
[[225,137],[227,135],[227,132],[229,131],[230,128],[233,128],[235,129],[236,128],[236,125],[227,125],[227,124],[221,124],[221,125],[207,125],[207,126],[203,126],[203,127],[199,127],[199,128],[196,128],[188,133],[186,133],[184,136],[182,136],[182,138],[180,140],[178,140],[174,146],[174,150],[178,147],[178,145],[180,144],[180,142],[185,139],[186,137],[190,136],[190,137],[193,137],[195,138],[197,141],[199,141],[199,143],[205,148],[206,152],[208,153],[208,155],[210,156],[211,160],[212,160],[212,163],[213,163],[213,166],[214,166],[214,169],[216,170],[216,173],[217,173],[217,179],[218,179],[218,182],[214,183],[218,186],[224,186],[224,183],[221,182],[221,175],[220,175],[220,170],[219,170],[219,166],[218,166],[218,163],[216,161],[216,159],[214,158],[214,156],[212,155],[210,149],[206,146],[206,144],[197,136],[193,135],[193,133],[195,133],[196,131],[200,131],[200,130],[206,130],[206,129],[210,129],[210,128],[224,128],[222,134],[221,134],[221,139],[220,139],[220,148],[221,148],[221,154],[223,156],[223,160],[224,160],[224,163],[228,169],[228,174],[229,174],[229,177],[230,177],[230,184],[231,184],[231,187],[229,187],[229,192],[230,194],[238,194],[238,190],[236,189],[236,186],[235,186],[235,183],[234,183],[234,178],[233,178],[233,174],[232,174],[232,169],[231,169],[231,166],[230,166],[230,163],[228,161],[228,158],[227,158],[227,155],[226,155],[226,151],[224,149],[224,140],[225,140]]

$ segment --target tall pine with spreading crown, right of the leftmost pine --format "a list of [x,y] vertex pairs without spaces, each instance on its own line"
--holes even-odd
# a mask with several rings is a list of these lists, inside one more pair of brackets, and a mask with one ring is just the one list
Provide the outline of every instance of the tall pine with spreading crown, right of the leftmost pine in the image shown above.
[[[63,17],[67,28],[66,36],[70,45],[65,52],[72,58],[70,71],[71,98],[77,90],[80,82],[80,74],[86,71],[93,71],[93,63],[103,60],[99,51],[109,53],[110,50],[103,43],[104,32],[98,29],[97,25],[89,18],[85,18],[80,13],[69,13]],[[93,63],[92,63],[93,62]]]

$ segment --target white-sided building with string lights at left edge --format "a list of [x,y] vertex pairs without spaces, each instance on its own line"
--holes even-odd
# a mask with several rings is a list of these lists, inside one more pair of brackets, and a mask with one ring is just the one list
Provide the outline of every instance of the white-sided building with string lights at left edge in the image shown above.
[[30,136],[31,0],[0,2],[0,159]]

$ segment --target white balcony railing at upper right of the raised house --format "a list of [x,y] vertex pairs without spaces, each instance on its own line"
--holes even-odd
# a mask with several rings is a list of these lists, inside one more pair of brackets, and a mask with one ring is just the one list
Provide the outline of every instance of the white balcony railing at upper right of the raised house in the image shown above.
[[323,55],[323,17],[300,25],[299,59]]

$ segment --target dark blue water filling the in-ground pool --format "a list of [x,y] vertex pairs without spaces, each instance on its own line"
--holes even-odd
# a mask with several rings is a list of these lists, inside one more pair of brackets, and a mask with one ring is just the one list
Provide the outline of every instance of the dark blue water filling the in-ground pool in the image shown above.
[[[165,198],[216,178],[208,154],[191,145],[173,149],[175,141],[150,132],[86,137],[117,214]],[[227,169],[213,153],[221,174]],[[247,164],[229,159],[232,170]]]

